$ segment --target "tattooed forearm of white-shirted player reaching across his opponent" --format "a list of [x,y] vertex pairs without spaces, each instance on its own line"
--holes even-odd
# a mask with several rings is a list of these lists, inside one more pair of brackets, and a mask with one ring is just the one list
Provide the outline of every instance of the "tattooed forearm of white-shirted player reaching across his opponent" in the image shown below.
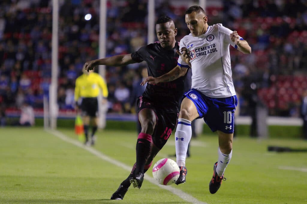
[[176,66],[171,71],[163,74],[159,77],[148,76],[144,81],[142,81],[141,85],[144,86],[147,82],[150,84],[157,84],[161,82],[173,81],[178,79],[181,76],[184,76],[187,72],[188,68]]

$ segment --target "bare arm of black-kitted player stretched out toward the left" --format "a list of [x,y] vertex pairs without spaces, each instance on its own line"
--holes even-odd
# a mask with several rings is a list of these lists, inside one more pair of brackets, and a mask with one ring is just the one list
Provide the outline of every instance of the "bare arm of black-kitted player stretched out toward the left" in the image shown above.
[[122,55],[115,55],[112,57],[87,61],[83,65],[83,69],[86,69],[88,72],[89,70],[93,70],[97,65],[124,66],[133,63],[136,62],[132,60],[131,54],[122,54]]

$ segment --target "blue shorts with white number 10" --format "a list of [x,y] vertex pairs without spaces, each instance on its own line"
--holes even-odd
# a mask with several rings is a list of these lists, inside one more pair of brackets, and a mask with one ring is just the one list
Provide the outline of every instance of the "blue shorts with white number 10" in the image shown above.
[[204,118],[212,132],[220,130],[228,134],[233,133],[235,107],[238,105],[235,95],[227,98],[211,98],[196,89],[191,89],[185,93],[185,97],[194,103],[199,114],[198,118]]

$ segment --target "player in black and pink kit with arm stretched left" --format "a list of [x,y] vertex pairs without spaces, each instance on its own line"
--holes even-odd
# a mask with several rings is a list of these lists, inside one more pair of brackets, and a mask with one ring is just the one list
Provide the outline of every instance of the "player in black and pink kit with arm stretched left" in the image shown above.
[[[161,16],[156,23],[156,33],[159,42],[143,46],[132,54],[88,61],[84,69],[91,70],[96,65],[124,66],[146,61],[148,76],[158,77],[168,73],[177,65],[180,54],[179,43],[175,40],[177,28],[170,17]],[[181,54],[182,58],[186,56],[185,52]],[[122,200],[130,184],[141,187],[144,173],[177,124],[178,102],[183,96],[185,76],[171,82],[147,84],[138,98],[138,120],[142,131],[136,143],[136,163],[111,200]]]

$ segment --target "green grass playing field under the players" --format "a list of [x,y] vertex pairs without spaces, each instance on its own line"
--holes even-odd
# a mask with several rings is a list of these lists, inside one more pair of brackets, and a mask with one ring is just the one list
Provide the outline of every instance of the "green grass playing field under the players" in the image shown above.
[[[72,129],[59,131],[77,141]],[[97,136],[94,151],[123,163],[123,168],[92,154],[92,148],[78,147],[42,128],[0,128],[0,203],[191,203],[148,180],[141,189],[130,187],[124,200],[109,200],[134,164],[137,134],[107,130]],[[303,140],[239,136],[227,180],[211,195],[217,136],[200,135],[192,139],[187,182],[171,188],[210,204],[307,203],[307,152],[268,152],[268,145],[307,148]],[[154,162],[174,153],[171,136]],[[152,177],[151,171],[147,175]]]

